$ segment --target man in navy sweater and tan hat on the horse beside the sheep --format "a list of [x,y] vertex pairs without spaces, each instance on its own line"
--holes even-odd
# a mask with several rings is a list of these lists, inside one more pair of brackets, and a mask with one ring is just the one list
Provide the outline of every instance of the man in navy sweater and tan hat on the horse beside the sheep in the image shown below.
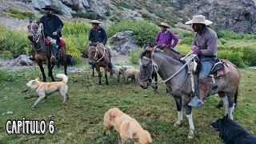
[[112,50],[111,50],[110,46],[106,45],[106,41],[107,41],[106,30],[104,30],[101,26],[99,26],[99,24],[101,24],[101,22],[99,22],[98,20],[92,20],[90,23],[93,26],[93,28],[90,30],[90,34],[89,34],[90,46],[94,46],[94,43],[96,43],[96,42],[102,42],[104,44],[104,46],[106,46],[106,48],[108,49],[108,54],[109,54],[109,59],[110,59],[109,66],[110,66],[110,68],[114,68],[114,65],[112,64],[112,61],[111,61]]

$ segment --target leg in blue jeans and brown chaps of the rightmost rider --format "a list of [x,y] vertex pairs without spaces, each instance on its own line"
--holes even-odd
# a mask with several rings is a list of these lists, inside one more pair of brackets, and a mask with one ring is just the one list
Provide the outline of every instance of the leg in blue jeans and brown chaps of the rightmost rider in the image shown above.
[[201,58],[201,70],[198,74],[198,88],[194,98],[188,104],[193,107],[200,107],[206,102],[207,94],[211,85],[211,78],[207,78],[210,70],[214,66],[213,58]]

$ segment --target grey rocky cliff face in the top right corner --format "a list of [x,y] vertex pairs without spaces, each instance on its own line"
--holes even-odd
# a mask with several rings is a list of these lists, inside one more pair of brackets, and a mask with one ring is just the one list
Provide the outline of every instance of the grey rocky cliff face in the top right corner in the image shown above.
[[251,27],[256,23],[256,6],[251,0],[235,1],[232,4],[229,1],[197,1],[189,6],[190,19],[196,14],[205,15],[218,30],[232,29],[247,33],[252,31]]

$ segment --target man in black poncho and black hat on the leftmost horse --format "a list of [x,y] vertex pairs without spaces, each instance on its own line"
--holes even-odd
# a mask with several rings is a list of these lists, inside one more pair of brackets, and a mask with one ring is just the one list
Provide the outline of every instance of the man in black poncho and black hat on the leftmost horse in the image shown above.
[[57,15],[53,14],[54,8],[51,6],[42,7],[45,10],[45,14],[38,20],[39,23],[42,23],[44,27],[45,38],[50,37],[50,48],[51,48],[51,58],[50,62],[56,62],[56,53],[57,53],[57,40],[62,37],[62,27],[63,22]]

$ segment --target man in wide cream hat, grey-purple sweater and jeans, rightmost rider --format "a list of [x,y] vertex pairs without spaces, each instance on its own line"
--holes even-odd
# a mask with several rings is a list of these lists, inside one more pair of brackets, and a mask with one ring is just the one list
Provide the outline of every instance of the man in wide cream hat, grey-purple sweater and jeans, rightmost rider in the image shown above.
[[203,15],[196,15],[185,24],[192,24],[195,32],[194,40],[191,45],[191,50],[194,54],[198,54],[201,62],[201,69],[198,74],[198,89],[195,90],[194,98],[190,101],[189,106],[200,107],[206,102],[207,94],[211,87],[211,78],[207,75],[214,66],[217,56],[218,38],[214,30],[207,26],[212,24],[206,20]]

